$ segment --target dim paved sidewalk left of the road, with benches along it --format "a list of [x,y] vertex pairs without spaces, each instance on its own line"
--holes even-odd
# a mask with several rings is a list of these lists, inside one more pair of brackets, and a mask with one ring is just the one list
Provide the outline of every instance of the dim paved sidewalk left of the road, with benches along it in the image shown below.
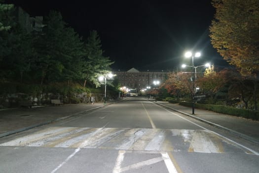
[[49,124],[111,103],[113,102],[0,110],[0,137]]

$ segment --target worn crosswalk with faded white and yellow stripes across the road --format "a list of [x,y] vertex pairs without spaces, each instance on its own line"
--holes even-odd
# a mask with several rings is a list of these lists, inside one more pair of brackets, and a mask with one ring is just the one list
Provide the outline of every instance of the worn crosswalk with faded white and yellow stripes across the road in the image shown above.
[[198,153],[224,153],[229,145],[209,130],[76,127],[51,127],[0,144]]

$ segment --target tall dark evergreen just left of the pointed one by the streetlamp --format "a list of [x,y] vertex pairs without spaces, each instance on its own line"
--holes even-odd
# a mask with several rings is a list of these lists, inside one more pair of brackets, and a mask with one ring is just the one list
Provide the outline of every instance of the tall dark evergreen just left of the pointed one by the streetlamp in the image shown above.
[[37,39],[37,77],[44,80],[68,81],[82,78],[82,41],[72,28],[66,27],[59,12],[50,11],[47,26]]

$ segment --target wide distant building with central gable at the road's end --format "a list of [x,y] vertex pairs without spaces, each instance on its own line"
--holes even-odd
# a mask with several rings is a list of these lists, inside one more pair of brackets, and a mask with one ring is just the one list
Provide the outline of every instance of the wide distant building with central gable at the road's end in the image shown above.
[[164,83],[168,72],[164,71],[138,71],[131,68],[128,71],[114,71],[119,83],[122,87],[135,88],[136,92],[147,87],[152,87],[154,81]]

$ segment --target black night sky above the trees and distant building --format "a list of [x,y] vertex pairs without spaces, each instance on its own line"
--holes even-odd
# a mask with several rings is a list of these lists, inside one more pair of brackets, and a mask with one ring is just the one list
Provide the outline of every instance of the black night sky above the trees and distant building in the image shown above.
[[96,30],[113,70],[181,68],[185,50],[201,51],[194,66],[227,66],[210,43],[215,9],[211,0],[5,0],[31,16],[60,11],[69,26],[86,39]]

